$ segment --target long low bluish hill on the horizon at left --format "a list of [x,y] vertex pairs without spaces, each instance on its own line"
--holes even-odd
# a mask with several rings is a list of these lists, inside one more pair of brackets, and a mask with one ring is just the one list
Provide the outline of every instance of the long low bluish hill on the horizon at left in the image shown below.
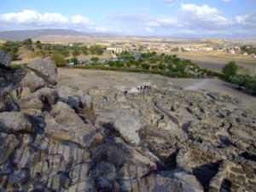
[[60,36],[84,36],[84,32],[77,32],[67,29],[38,29],[0,32],[0,38],[7,40],[24,40],[26,38],[38,38],[41,36],[60,35]]

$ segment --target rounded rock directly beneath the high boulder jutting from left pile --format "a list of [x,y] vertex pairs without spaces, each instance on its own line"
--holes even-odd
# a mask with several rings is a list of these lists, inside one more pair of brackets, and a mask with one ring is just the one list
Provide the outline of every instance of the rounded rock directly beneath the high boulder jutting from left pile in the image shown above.
[[20,85],[29,87],[30,90],[35,91],[44,87],[45,82],[44,79],[39,78],[32,73],[27,73],[24,79],[21,80]]

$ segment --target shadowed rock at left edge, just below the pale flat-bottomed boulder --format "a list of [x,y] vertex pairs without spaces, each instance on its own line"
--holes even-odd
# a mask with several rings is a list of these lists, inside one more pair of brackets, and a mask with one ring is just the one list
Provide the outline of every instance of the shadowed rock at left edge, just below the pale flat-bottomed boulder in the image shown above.
[[9,155],[14,151],[19,144],[15,135],[0,133],[0,165],[8,160]]

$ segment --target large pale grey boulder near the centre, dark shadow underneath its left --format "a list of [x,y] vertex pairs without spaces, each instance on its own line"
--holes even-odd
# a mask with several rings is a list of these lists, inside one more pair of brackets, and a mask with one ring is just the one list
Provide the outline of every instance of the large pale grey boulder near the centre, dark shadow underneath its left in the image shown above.
[[141,141],[138,131],[144,124],[136,114],[117,110],[100,114],[96,119],[96,126],[99,125],[118,132],[125,142],[138,146]]

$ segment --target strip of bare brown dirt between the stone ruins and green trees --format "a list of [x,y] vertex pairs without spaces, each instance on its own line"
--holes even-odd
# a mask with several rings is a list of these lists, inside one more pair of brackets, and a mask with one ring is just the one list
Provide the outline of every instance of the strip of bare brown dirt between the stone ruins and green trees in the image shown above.
[[79,90],[91,88],[137,91],[137,85],[151,84],[153,89],[168,89],[170,84],[177,84],[184,90],[210,90],[241,100],[241,108],[256,110],[256,96],[219,79],[170,79],[149,73],[125,73],[102,70],[85,70],[72,68],[58,69],[59,84]]

